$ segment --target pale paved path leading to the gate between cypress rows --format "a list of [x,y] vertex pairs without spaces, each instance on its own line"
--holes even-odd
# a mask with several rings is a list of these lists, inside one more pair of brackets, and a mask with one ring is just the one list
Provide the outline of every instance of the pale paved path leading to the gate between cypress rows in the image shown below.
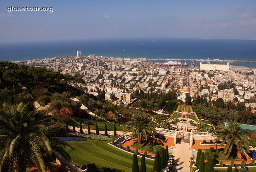
[[188,143],[177,144],[176,148],[173,148],[172,154],[174,155],[174,167],[173,172],[189,172],[189,160],[192,157],[192,150],[189,149]]

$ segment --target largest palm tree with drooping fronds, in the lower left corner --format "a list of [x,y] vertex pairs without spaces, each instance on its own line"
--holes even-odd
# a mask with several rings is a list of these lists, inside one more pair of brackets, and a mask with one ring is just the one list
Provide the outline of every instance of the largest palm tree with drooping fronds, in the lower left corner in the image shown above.
[[51,166],[54,153],[67,160],[70,155],[63,146],[67,143],[52,137],[57,130],[65,130],[65,125],[53,116],[40,114],[39,111],[27,112],[26,105],[7,106],[0,109],[0,171],[29,171],[32,166],[39,172]]

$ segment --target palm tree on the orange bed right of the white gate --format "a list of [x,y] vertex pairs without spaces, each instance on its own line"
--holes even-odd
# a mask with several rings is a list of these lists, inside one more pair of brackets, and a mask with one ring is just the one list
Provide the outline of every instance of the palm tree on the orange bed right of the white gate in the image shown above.
[[232,153],[232,150],[240,150],[242,156],[244,155],[243,147],[246,150],[250,150],[249,146],[253,146],[250,133],[241,129],[242,124],[238,124],[237,121],[228,121],[229,127],[219,126],[214,134],[217,136],[215,142],[221,141],[221,146],[227,144],[225,147],[225,154]]

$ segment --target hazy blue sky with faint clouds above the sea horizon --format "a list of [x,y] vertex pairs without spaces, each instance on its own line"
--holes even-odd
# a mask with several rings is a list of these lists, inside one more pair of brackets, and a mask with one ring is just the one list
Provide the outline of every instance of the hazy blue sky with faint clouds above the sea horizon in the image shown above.
[[[11,11],[8,7],[52,7]],[[0,0],[0,42],[256,38],[255,0]]]

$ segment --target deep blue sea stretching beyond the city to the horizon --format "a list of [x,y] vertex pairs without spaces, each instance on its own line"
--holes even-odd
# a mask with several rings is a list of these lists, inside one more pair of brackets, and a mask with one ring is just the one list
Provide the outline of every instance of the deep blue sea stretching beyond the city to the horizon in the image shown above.
[[[50,57],[96,56],[147,59],[256,60],[256,40],[198,38],[85,39],[0,43],[0,61],[22,61]],[[158,61],[158,60],[156,60]],[[163,60],[163,62],[166,62]],[[192,65],[191,60],[182,60]],[[195,61],[194,65],[198,65]],[[256,68],[255,62],[233,66]]]

